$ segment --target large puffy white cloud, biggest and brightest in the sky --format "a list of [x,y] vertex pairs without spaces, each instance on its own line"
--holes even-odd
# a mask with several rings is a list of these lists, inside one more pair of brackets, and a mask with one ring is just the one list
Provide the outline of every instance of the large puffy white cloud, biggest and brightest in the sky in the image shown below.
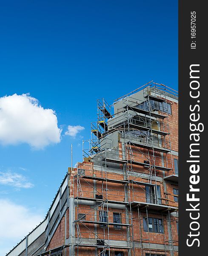
[[61,129],[52,109],[44,109],[29,94],[0,98],[0,143],[15,145],[28,143],[33,148],[44,148],[60,142]]

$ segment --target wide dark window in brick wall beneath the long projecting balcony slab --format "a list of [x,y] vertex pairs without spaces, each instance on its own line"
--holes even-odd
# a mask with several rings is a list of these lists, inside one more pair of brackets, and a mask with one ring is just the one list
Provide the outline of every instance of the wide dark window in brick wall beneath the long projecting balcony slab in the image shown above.
[[144,218],[143,227],[146,232],[163,233],[162,219],[158,218]]

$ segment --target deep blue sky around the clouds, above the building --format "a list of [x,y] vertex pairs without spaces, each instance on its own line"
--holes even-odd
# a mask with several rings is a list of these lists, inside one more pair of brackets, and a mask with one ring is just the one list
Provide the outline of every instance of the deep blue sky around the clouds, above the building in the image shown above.
[[[151,80],[177,90],[177,1],[0,2],[0,97],[30,93],[62,129],[60,142],[41,149],[0,143],[0,200],[36,223],[67,172],[71,143],[73,163],[82,159],[97,99],[111,104]],[[71,137],[68,125],[85,129]],[[18,241],[0,237],[2,253]]]

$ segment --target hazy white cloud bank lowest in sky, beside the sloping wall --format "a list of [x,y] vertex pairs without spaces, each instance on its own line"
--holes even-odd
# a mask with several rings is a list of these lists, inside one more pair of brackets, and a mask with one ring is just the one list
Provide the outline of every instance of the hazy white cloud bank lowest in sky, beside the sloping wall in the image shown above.
[[0,255],[6,255],[21,239],[32,231],[43,217],[22,205],[0,199]]

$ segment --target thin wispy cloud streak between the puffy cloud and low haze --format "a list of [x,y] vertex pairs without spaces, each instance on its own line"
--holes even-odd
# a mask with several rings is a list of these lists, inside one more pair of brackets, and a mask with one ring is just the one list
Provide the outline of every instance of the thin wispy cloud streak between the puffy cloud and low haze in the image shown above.
[[34,185],[28,182],[27,178],[15,172],[0,172],[0,184],[9,185],[16,188],[31,188]]

